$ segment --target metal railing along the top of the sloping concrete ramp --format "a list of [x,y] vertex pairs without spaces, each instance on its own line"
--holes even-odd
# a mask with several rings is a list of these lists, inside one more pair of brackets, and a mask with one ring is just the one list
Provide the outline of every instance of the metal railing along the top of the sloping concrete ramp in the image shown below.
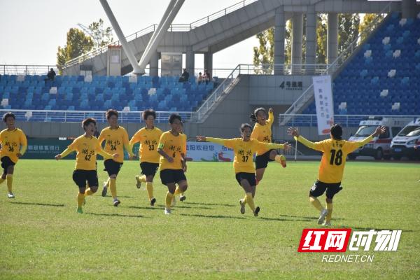
[[[190,31],[192,29],[195,29],[197,27],[200,27],[202,25],[205,25],[209,22],[211,22],[212,20],[216,20],[218,18],[223,17],[224,15],[227,15],[228,13],[232,13],[235,10],[238,10],[239,8],[243,8],[244,6],[253,3],[257,0],[244,0],[244,1],[240,1],[239,3],[236,3],[232,6],[229,6],[228,8],[225,8],[223,10],[219,10],[216,13],[212,13],[211,15],[208,15],[207,17],[201,18],[200,20],[196,20],[195,22],[191,22],[190,24],[175,24],[175,25],[170,25],[168,28],[168,31],[170,32],[180,32],[180,31]],[[141,29],[133,34],[130,34],[128,36],[126,36],[125,38],[127,39],[127,42],[130,42],[132,40],[134,40],[135,38],[139,38],[141,36],[144,36],[148,33],[151,33],[153,31],[155,31],[156,27],[158,27],[158,25],[151,25],[148,26],[144,29]],[[87,59],[90,59],[92,57],[95,57],[97,55],[100,55],[104,52],[106,52],[108,50],[109,45],[120,45],[120,41],[114,41],[112,43],[109,43],[108,45],[104,45],[101,48],[97,48],[94,49],[90,52],[85,53],[84,55],[80,55],[79,57],[70,59],[69,61],[66,62],[66,64],[64,65],[64,69],[66,69],[67,67],[71,67],[73,65],[79,64],[84,62]]]

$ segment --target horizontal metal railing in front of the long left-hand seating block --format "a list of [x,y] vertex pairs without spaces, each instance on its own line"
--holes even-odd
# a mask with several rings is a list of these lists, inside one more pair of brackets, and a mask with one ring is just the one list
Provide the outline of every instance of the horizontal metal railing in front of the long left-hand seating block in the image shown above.
[[[104,111],[56,111],[56,110],[5,110],[0,109],[0,114],[12,112],[16,120],[24,122],[55,122],[55,123],[80,123],[85,118],[94,118],[98,123],[106,123]],[[118,120],[120,123],[144,123],[142,111],[120,111]],[[156,123],[167,123],[169,116],[175,112],[156,112]],[[192,112],[176,112],[183,121],[190,122]]]

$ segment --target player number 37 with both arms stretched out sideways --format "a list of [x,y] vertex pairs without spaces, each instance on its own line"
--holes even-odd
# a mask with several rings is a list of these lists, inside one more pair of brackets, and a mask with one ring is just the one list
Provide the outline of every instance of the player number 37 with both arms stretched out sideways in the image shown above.
[[235,153],[233,160],[233,169],[235,169],[236,179],[239,185],[245,191],[245,197],[239,200],[241,205],[241,214],[245,214],[245,204],[253,211],[254,216],[258,216],[260,207],[255,207],[253,198],[255,197],[256,181],[255,181],[255,167],[253,166],[253,154],[255,151],[262,149],[286,149],[290,145],[273,144],[260,142],[257,139],[251,139],[252,127],[248,123],[241,125],[241,138],[234,139],[220,139],[212,137],[197,136],[197,141],[210,141],[221,144],[228,148],[232,148]]

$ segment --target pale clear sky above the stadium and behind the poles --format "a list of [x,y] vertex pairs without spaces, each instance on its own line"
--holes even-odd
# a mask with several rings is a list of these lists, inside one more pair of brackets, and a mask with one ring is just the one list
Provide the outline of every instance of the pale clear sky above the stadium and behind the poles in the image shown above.
[[[190,23],[239,3],[239,0],[186,0],[173,23]],[[158,24],[169,0],[108,0],[125,36]],[[0,64],[55,64],[57,47],[66,44],[66,33],[81,23],[102,18],[111,26],[99,0],[0,0]],[[114,36],[116,40],[117,37]],[[214,68],[235,68],[253,63],[255,36],[216,52]],[[185,62],[184,62],[185,63]],[[195,68],[204,65],[195,59]]]

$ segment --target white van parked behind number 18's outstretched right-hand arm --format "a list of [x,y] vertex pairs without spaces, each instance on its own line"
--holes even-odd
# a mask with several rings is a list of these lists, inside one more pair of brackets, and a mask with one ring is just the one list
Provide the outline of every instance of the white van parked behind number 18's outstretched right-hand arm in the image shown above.
[[379,135],[379,137],[374,137],[369,144],[350,153],[349,159],[354,160],[359,155],[367,155],[374,157],[376,160],[381,160],[381,158],[389,160],[391,158],[391,141],[393,137],[395,137],[395,135],[400,132],[401,128],[407,125],[410,120],[412,120],[412,118],[384,118],[372,116],[366,120],[361,120],[358,130],[350,137],[349,141],[361,141],[365,139],[373,134],[374,130],[376,130],[379,125],[386,127],[386,132]]

